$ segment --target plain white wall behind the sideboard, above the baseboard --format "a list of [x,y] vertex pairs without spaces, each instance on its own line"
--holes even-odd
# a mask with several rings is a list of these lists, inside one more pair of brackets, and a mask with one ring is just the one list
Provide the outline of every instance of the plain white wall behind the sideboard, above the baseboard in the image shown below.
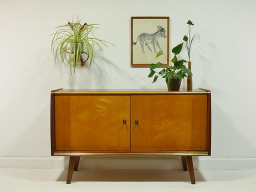
[[[130,17],[169,16],[171,47],[187,19],[203,30],[191,61],[193,87],[212,92],[209,158],[256,158],[254,7],[254,0],[1,0],[0,156],[50,156],[51,89],[165,88],[163,79],[151,83],[148,68],[130,67]],[[92,66],[71,76],[54,63],[48,35],[77,15],[99,23],[97,36],[116,46],[104,56],[97,50]]]

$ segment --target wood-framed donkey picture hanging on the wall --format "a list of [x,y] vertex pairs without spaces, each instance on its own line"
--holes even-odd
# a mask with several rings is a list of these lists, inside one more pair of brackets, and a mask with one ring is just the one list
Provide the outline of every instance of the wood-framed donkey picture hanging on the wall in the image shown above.
[[[169,17],[132,16],[131,17],[131,66],[149,66],[169,61]],[[156,57],[160,50],[164,55]]]

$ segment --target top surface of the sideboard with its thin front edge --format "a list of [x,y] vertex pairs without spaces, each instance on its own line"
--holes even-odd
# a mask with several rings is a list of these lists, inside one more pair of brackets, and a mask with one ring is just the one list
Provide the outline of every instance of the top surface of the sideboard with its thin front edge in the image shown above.
[[56,89],[54,94],[207,94],[207,89]]

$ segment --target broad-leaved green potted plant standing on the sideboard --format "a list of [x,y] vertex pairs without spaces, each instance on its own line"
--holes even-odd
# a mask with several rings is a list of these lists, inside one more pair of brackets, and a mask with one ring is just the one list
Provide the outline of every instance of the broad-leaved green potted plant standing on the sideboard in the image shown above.
[[[165,82],[169,90],[178,90],[180,87],[181,79],[187,75],[192,75],[192,72],[184,65],[184,62],[187,61],[184,59],[177,59],[176,55],[180,53],[182,45],[183,43],[180,43],[172,48],[171,52],[174,53],[174,57],[170,60],[171,64],[166,68],[162,68],[159,72],[157,72],[157,74],[155,74],[156,71],[154,69],[161,67],[162,63],[157,62],[155,64],[150,64],[150,73],[148,74],[148,77],[152,77],[155,74],[152,82],[155,82],[157,78],[161,76],[162,78],[165,78]],[[156,57],[162,54],[163,52],[161,50],[156,54]]]

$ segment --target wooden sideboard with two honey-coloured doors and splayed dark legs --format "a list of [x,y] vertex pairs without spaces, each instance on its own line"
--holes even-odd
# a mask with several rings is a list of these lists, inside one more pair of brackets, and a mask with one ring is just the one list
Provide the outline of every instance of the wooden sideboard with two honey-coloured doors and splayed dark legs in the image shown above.
[[210,155],[210,91],[56,89],[51,91],[51,155],[181,156],[195,183],[192,156]]

